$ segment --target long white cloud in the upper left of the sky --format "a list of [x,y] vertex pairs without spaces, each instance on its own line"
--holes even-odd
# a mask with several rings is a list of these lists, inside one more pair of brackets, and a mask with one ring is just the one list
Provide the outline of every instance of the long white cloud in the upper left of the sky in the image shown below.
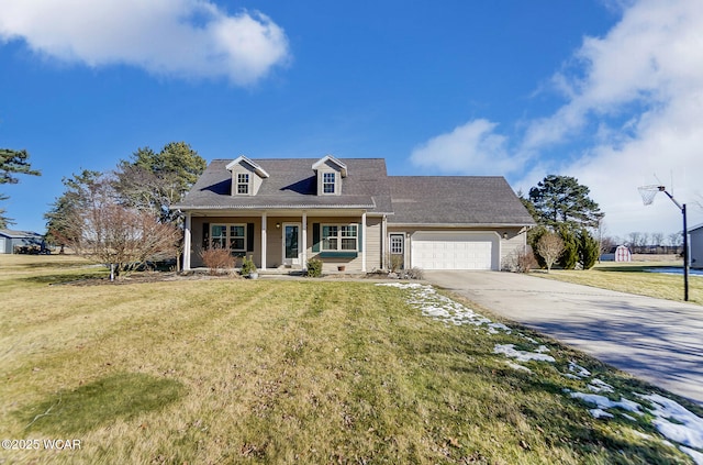
[[62,62],[237,85],[289,58],[286,34],[269,18],[228,15],[208,0],[0,0],[0,41],[13,40]]

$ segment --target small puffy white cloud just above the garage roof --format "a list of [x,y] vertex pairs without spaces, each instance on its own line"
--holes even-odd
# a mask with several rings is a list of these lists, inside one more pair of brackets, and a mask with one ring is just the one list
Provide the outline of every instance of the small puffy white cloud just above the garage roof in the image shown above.
[[501,175],[515,169],[496,123],[473,120],[415,147],[411,160],[443,173]]

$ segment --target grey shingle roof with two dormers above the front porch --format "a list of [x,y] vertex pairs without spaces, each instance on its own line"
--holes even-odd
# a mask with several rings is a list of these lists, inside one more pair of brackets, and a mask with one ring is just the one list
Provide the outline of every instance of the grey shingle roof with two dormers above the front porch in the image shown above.
[[214,159],[193,188],[174,209],[297,209],[359,208],[369,212],[391,212],[386,160],[345,158],[348,176],[339,196],[317,196],[312,165],[317,158],[252,159],[270,177],[263,179],[256,196],[231,196],[231,159]]

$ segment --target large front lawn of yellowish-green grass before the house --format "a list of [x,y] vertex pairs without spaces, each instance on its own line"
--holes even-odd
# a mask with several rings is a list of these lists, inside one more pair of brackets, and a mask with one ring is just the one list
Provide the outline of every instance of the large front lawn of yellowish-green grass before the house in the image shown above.
[[[410,300],[427,288],[66,284],[104,274],[0,256],[0,438],[32,445],[0,463],[691,463],[649,413],[590,414],[569,362],[614,400],[666,392],[524,330],[424,315]],[[516,364],[499,344],[555,362]],[[52,439],[80,449],[32,442]]]

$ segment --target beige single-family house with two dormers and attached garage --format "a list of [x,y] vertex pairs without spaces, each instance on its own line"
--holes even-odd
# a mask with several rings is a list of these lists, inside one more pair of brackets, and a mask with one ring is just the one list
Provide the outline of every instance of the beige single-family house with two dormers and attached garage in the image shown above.
[[204,247],[261,270],[493,269],[524,251],[529,213],[503,177],[388,176],[380,158],[215,159],[181,202],[183,269]]

